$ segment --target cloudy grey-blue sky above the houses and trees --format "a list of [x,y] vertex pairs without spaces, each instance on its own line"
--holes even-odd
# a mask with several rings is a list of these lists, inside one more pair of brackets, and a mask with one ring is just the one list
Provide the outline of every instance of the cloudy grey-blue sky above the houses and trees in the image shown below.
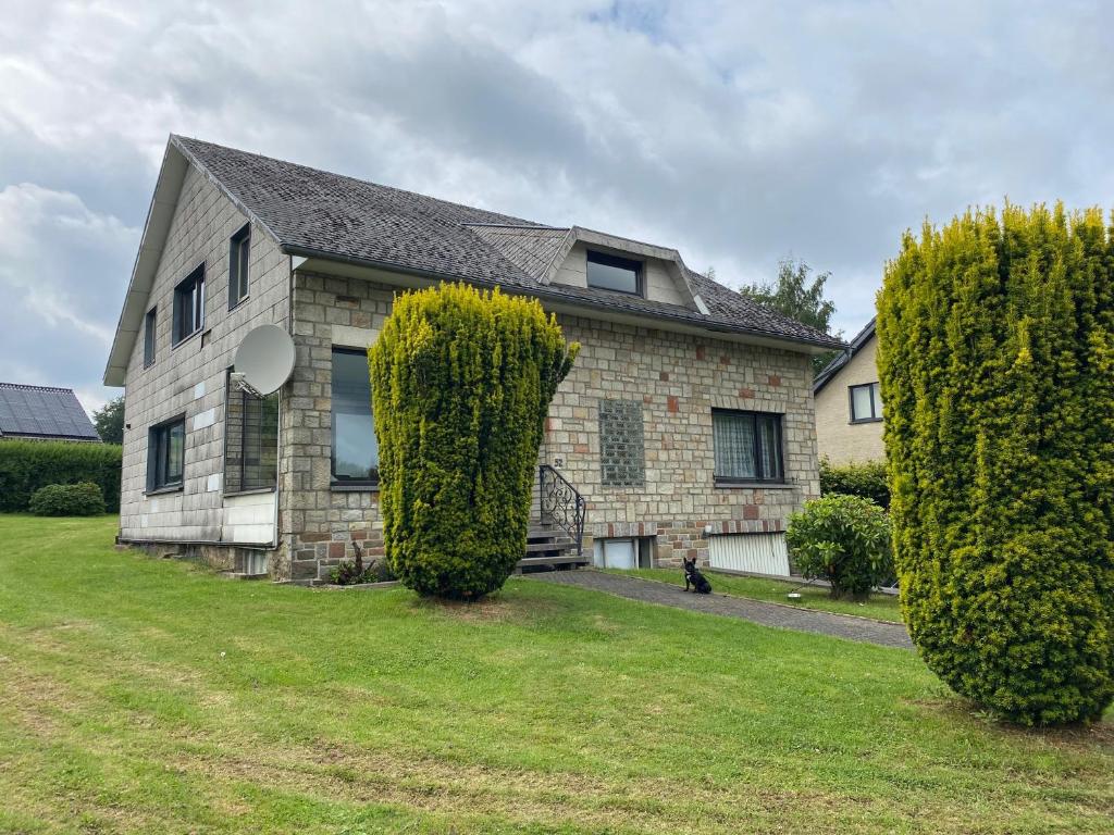
[[1114,206],[1102,2],[0,0],[0,381],[101,385],[170,132],[677,248],[829,272],[901,234]]

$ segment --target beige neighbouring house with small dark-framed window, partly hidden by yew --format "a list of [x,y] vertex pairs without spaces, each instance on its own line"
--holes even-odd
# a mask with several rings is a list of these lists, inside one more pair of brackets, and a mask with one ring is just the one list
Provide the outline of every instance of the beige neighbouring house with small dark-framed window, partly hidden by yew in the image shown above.
[[877,351],[874,320],[870,320],[812,384],[817,402],[817,446],[821,458],[833,464],[886,458]]

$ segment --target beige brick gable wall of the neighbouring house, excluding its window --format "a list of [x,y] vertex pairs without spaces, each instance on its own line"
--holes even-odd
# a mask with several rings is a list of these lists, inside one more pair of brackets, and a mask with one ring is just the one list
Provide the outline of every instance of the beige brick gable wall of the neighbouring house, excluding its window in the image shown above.
[[882,422],[851,423],[849,387],[878,382],[878,337],[871,336],[851,361],[815,395],[817,446],[833,464],[886,458]]

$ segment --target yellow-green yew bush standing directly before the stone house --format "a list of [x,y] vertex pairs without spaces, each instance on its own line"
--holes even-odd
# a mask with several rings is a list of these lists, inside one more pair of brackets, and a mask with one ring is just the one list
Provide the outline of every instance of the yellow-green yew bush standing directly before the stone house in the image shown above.
[[407,293],[369,350],[391,569],[422,595],[477,598],[526,553],[546,413],[571,369],[536,301],[442,285]]

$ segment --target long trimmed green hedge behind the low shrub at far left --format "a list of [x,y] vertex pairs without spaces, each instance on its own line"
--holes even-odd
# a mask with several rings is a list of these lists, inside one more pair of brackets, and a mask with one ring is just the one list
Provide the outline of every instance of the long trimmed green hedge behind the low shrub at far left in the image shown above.
[[120,509],[121,448],[109,443],[0,441],[0,511],[27,511],[31,495],[48,484],[91,481],[111,513]]

